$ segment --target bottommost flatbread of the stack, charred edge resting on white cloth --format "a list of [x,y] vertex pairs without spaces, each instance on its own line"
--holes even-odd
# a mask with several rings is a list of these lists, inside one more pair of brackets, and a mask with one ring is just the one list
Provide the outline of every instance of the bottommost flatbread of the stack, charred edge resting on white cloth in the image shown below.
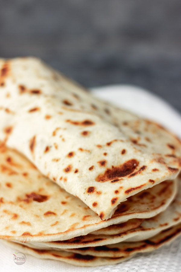
[[[150,252],[160,248],[164,244],[170,244],[173,240],[181,235],[181,224],[171,227],[158,235],[150,238],[149,240],[141,242],[132,243],[120,243],[114,244],[113,247],[106,248],[102,252],[108,252],[114,256],[121,257],[96,257],[94,255],[81,255],[78,253],[66,252],[66,251],[56,251],[56,250],[42,250],[30,248],[26,245],[20,245],[11,241],[3,241],[11,248],[14,248],[24,254],[30,254],[34,257],[41,259],[54,259],[64,261],[69,264],[74,264],[78,266],[98,266],[105,264],[117,264],[126,261],[133,257],[137,253]],[[101,250],[99,250],[101,252]],[[119,252],[119,254],[118,254]],[[94,252],[95,253],[95,252]]]

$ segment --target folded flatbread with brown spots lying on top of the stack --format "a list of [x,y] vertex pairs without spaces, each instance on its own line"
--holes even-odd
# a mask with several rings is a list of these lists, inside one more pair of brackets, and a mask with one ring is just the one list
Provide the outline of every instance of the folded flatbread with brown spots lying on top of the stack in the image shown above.
[[95,99],[38,59],[1,59],[0,89],[0,140],[101,219],[180,171],[173,134]]

